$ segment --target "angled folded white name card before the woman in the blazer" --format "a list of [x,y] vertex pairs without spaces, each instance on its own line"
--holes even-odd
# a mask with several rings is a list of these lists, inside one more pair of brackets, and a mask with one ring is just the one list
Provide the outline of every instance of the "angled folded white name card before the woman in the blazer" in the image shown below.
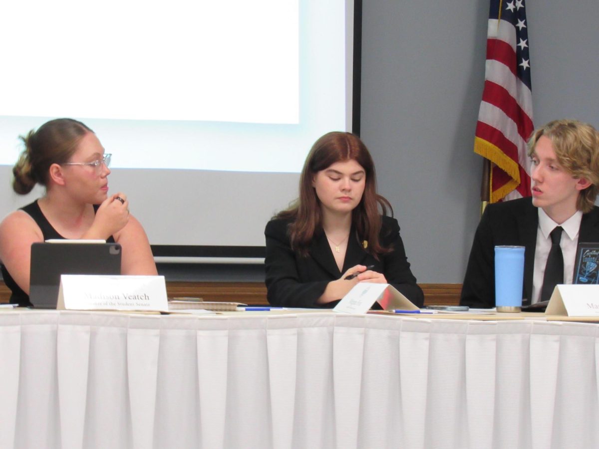
[[333,311],[367,313],[376,301],[379,301],[384,310],[418,310],[418,307],[391,284],[359,282],[343,296]]

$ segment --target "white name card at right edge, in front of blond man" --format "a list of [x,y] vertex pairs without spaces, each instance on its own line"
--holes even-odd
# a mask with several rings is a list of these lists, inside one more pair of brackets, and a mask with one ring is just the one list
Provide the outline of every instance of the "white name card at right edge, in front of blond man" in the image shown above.
[[545,314],[599,317],[599,285],[559,284],[555,286]]

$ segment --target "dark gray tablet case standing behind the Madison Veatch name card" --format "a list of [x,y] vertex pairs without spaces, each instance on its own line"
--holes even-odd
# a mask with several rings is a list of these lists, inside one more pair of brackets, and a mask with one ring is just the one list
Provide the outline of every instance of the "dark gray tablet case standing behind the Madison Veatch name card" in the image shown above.
[[61,274],[120,274],[118,243],[77,240],[31,245],[29,301],[35,308],[55,309]]

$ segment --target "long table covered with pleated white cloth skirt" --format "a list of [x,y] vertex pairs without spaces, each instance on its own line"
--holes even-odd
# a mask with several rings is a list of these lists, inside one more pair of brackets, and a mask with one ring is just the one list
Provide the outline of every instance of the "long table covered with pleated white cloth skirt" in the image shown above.
[[599,447],[599,325],[512,318],[2,311],[0,447]]

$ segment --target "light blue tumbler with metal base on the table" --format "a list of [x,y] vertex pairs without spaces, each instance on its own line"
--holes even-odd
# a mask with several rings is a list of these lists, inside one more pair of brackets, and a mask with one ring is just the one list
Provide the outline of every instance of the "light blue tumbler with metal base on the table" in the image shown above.
[[524,247],[495,247],[495,307],[498,312],[522,310]]

